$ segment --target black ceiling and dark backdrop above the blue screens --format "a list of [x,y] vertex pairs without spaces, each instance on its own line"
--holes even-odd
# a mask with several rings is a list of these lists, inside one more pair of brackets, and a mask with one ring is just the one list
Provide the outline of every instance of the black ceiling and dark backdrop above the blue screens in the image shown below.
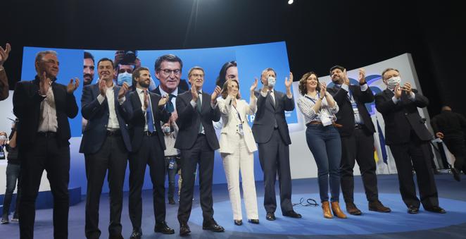
[[0,45],[18,81],[24,46],[184,49],[286,41],[291,71],[327,75],[409,52],[429,113],[442,104],[466,113],[460,1],[133,0],[2,1]]

